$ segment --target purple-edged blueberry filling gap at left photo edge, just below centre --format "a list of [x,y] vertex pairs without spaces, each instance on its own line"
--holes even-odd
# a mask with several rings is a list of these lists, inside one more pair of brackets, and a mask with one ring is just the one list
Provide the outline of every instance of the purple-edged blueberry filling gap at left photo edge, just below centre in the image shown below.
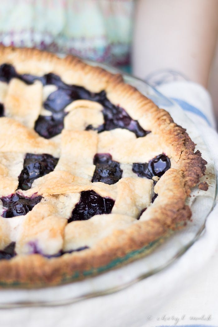
[[42,196],[33,194],[30,198],[27,198],[19,193],[15,193],[0,199],[2,200],[3,207],[6,208],[3,211],[2,217],[11,218],[26,215],[27,212],[31,211],[42,200]]

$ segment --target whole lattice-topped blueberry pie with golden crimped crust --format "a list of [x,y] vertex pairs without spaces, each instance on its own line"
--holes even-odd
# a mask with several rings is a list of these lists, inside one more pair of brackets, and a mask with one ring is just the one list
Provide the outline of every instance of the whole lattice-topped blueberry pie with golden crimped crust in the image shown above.
[[184,226],[194,148],[121,75],[1,47],[0,285],[82,279]]

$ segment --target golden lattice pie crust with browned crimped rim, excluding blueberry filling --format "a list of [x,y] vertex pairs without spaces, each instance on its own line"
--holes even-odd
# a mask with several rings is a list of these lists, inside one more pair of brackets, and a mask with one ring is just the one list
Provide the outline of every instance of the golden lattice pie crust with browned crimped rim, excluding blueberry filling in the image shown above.
[[[46,139],[34,126],[39,115],[50,114],[43,104],[57,87],[43,86],[40,80],[30,85],[18,78],[0,81],[0,103],[4,105],[0,198],[16,192],[30,198],[42,196],[26,215],[0,218],[0,250],[13,241],[17,253],[10,260],[0,260],[1,286],[42,287],[83,279],[116,266],[116,261],[122,264],[122,258],[128,258],[126,263],[144,255],[155,242],[185,226],[191,218],[186,199],[205,173],[206,161],[198,150],[194,152],[195,144],[168,112],[125,84],[120,74],[73,56],[59,58],[37,49],[1,47],[0,65],[5,63],[13,65],[18,74],[42,77],[53,73],[64,83],[92,93],[105,90],[112,104],[123,108],[149,133],[136,137],[125,128],[98,133],[95,129],[104,123],[102,105],[78,99],[65,107],[61,133]],[[88,125],[93,129],[86,130]],[[48,154],[59,161],[53,171],[34,180],[31,188],[16,191],[26,153]],[[110,154],[120,163],[119,181],[111,185],[92,182],[96,153]],[[133,163],[148,163],[160,154],[171,163],[160,178],[141,178],[132,171]],[[68,223],[81,192],[91,190],[115,200],[111,213]],[[153,192],[158,196],[152,203]],[[3,211],[0,204],[0,214]],[[33,244],[42,254],[33,253]],[[55,256],[59,251],[65,253]]]

